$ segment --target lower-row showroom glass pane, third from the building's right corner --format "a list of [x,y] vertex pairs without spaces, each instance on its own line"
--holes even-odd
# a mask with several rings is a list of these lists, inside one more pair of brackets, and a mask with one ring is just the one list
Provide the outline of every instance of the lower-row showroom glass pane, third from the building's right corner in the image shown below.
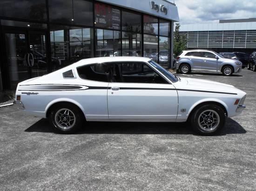
[[141,57],[141,34],[122,32],[122,55]]

